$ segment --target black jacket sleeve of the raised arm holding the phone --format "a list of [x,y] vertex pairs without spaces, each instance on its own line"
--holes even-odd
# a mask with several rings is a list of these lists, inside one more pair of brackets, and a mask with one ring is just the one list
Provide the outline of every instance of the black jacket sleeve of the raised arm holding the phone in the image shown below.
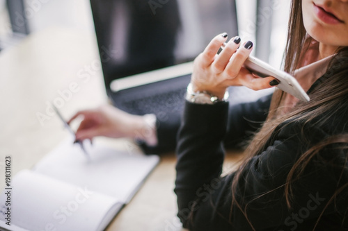
[[[284,197],[287,174],[301,153],[308,149],[299,135],[303,124],[282,126],[272,136],[267,148],[248,161],[237,182],[236,194],[237,202],[245,209],[232,205],[231,185],[235,173],[221,177],[224,158],[222,140],[227,124],[228,103],[186,103],[178,133],[175,181],[178,216],[184,228],[313,229],[337,188],[338,176],[329,167],[318,169],[317,166],[309,166],[310,171],[296,182],[296,190],[292,194],[296,203],[291,209],[287,207]],[[316,137],[326,136],[315,126],[308,125],[305,130],[308,134],[316,134]],[[338,204],[347,208],[347,202],[342,201]],[[335,214],[335,209],[337,207],[327,207],[322,221],[333,221],[331,215]],[[247,218],[244,212],[248,214]]]

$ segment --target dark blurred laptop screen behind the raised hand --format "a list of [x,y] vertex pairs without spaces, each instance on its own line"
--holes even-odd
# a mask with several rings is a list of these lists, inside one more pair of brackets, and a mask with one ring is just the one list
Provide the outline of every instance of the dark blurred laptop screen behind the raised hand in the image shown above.
[[192,61],[237,35],[234,0],[90,0],[106,89],[112,80]]

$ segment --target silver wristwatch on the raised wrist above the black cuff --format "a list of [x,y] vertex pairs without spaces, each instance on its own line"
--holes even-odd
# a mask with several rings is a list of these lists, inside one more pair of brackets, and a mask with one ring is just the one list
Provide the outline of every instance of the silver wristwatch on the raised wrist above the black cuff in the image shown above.
[[192,84],[189,83],[187,86],[186,100],[191,103],[199,104],[214,104],[218,102],[223,102],[228,100],[228,91],[225,92],[223,99],[219,99],[217,96],[209,94],[208,92],[193,92]]

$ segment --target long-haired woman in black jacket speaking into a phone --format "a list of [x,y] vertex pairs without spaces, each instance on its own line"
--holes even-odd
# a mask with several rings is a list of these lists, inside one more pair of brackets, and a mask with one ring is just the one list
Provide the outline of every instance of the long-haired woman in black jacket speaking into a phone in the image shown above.
[[[285,71],[310,102],[277,89],[245,160],[225,177],[227,87],[264,89],[276,81],[244,69],[252,44],[238,37],[216,55],[227,40],[218,35],[198,55],[177,146],[175,193],[185,228],[348,230],[347,12],[346,0],[292,1]],[[219,100],[192,103],[201,92]]]

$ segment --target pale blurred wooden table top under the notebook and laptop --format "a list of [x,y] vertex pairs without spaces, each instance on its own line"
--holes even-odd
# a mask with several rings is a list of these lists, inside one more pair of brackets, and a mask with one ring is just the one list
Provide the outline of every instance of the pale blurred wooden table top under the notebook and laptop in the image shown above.
[[[94,35],[61,28],[30,35],[19,46],[0,53],[1,190],[6,156],[12,157],[14,176],[22,169],[30,169],[68,136],[58,117],[47,116],[47,101],[61,101],[66,118],[77,110],[107,103],[97,62]],[[88,67],[92,67],[90,78],[79,78]],[[42,114],[47,117],[42,119]],[[132,141],[108,142],[125,148],[125,142]],[[228,154],[226,171],[240,156],[241,153]],[[162,155],[157,168],[107,230],[182,230],[176,217],[174,180],[175,155]]]

